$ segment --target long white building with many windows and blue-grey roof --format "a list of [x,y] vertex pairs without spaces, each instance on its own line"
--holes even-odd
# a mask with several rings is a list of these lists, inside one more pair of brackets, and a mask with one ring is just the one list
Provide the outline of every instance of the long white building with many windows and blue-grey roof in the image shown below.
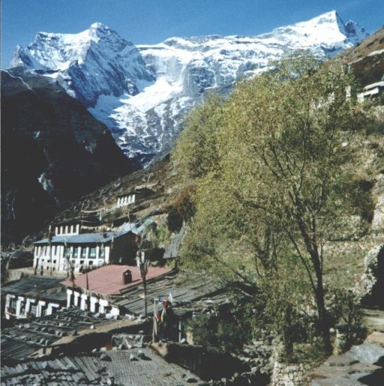
[[[73,231],[74,225],[68,228]],[[76,227],[77,228],[77,227]],[[135,262],[137,234],[132,230],[66,234],[34,242],[34,268],[38,274],[81,272],[108,264]],[[65,229],[67,231],[67,229]],[[64,231],[64,232],[65,232]],[[77,232],[77,229],[76,229]]]

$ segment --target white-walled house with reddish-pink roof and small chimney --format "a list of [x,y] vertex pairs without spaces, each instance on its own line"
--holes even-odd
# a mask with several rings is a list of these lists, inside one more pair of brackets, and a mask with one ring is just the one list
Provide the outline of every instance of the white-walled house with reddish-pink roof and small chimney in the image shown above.
[[[146,281],[169,274],[172,269],[148,267]],[[76,277],[73,281],[62,281],[67,287],[67,307],[71,305],[92,313],[121,314],[119,307],[113,303],[121,296],[121,291],[135,288],[142,284],[142,277],[137,266],[106,265]]]

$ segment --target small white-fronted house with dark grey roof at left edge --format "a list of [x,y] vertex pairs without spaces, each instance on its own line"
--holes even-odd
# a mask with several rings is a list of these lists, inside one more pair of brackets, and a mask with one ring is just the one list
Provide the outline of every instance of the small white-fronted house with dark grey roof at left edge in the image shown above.
[[28,277],[1,287],[6,319],[25,319],[53,314],[66,305],[65,288],[58,278]]

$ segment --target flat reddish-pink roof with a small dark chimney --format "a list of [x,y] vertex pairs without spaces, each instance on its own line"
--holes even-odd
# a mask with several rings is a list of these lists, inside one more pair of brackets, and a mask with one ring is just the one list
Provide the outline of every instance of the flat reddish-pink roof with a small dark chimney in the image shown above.
[[[123,284],[123,273],[130,269],[132,272],[132,281],[129,284]],[[156,279],[164,274],[168,274],[172,269],[165,269],[160,267],[149,267],[146,274],[146,280]],[[87,288],[87,276],[88,276],[88,288]],[[64,286],[71,287],[72,281],[62,281]],[[88,274],[82,274],[74,280],[74,285],[94,293],[100,293],[103,295],[120,295],[121,291],[127,288],[132,288],[142,284],[142,278],[139,273],[139,269],[132,265],[105,265],[88,272]]]

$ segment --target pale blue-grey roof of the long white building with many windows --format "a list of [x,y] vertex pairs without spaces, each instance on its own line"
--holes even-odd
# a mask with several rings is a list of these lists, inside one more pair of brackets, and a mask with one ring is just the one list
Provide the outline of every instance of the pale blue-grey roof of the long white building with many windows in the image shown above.
[[[73,236],[53,236],[51,239],[52,244],[69,244],[69,245],[77,245],[77,244],[101,244],[101,243],[109,243],[113,239],[117,237],[121,237],[124,234],[132,233],[135,234],[135,229],[118,229],[114,232],[100,232],[100,233],[82,233],[82,234],[74,234]],[[41,239],[39,241],[35,241],[34,245],[45,245],[49,244],[49,240]]]

